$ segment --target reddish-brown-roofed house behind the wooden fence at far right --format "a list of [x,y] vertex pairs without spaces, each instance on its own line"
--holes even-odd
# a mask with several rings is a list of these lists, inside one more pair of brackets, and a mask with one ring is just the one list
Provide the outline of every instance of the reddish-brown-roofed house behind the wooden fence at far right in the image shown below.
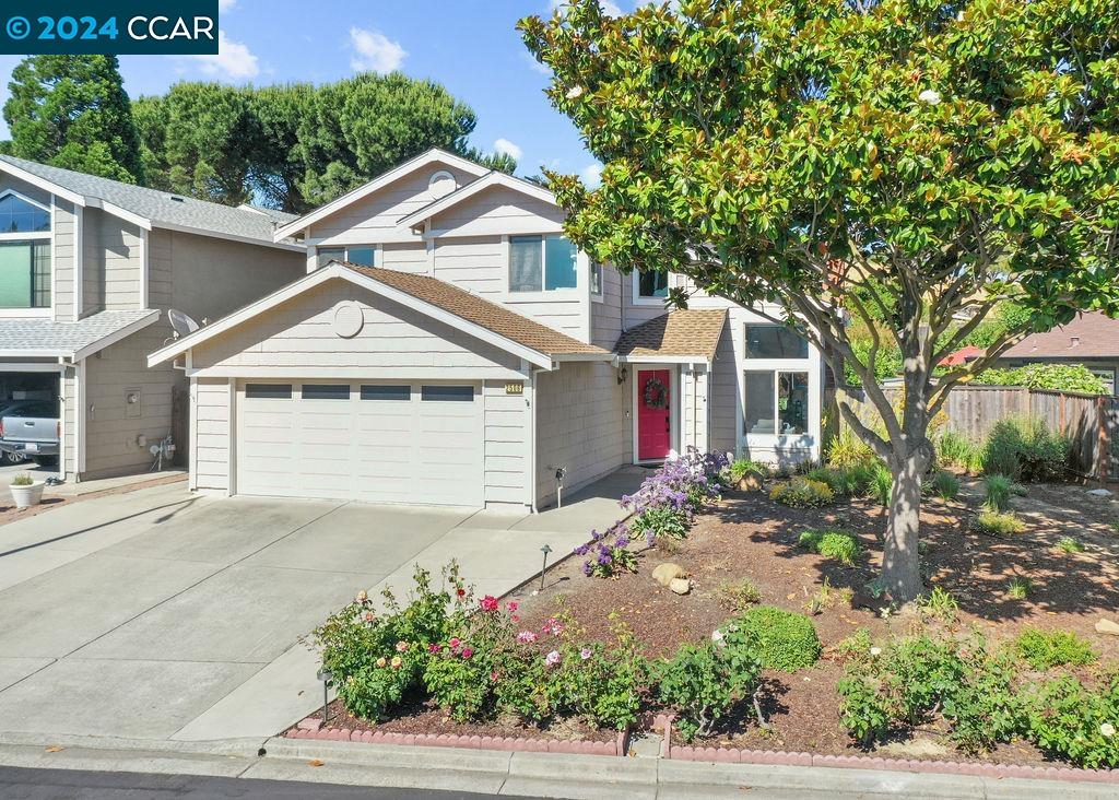
[[1119,369],[1119,320],[1092,312],[1076,314],[1069,324],[1031,333],[997,360],[998,367],[1027,364],[1082,364],[1116,393]]

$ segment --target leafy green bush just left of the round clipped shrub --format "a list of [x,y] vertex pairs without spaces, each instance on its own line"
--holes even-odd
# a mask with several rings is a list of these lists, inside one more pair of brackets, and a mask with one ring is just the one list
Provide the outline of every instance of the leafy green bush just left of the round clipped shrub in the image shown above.
[[656,670],[657,697],[678,712],[685,742],[708,736],[735,704],[758,690],[761,663],[741,631],[716,631],[715,639],[681,644]]

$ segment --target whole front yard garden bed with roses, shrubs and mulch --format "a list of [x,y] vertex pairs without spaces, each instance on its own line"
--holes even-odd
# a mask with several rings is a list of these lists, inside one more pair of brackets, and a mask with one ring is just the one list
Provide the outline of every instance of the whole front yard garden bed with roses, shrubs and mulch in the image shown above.
[[[345,676],[327,727],[560,752],[670,714],[674,746],[750,757],[1119,764],[1119,637],[1096,629],[1119,608],[1119,506],[965,477],[924,502],[928,592],[900,609],[875,581],[885,511],[869,472],[835,472],[742,491],[689,454],[543,590],[477,599],[452,566],[442,583],[417,574],[387,613],[359,595],[317,631]],[[862,488],[826,486],[845,481]],[[1024,530],[978,533],[981,503]]]

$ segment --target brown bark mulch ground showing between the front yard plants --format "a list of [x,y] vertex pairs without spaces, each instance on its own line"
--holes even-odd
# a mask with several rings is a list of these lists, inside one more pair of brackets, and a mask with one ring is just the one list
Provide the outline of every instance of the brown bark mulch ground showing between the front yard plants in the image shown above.
[[[1119,519],[1119,502],[1096,498],[1075,486],[1032,486],[1026,498],[1014,500],[1015,510],[1028,524],[1027,533],[1012,540],[980,536],[968,529],[971,507],[978,506],[975,487],[966,484],[970,498],[943,502],[925,501],[922,508],[922,564],[927,580],[952,594],[960,605],[948,630],[965,633],[977,627],[993,642],[1013,639],[1024,627],[1072,630],[1091,640],[1106,660],[1119,660],[1119,637],[1097,633],[1101,617],[1115,619],[1119,609],[1119,535],[1111,523]],[[864,555],[845,567],[833,559],[797,547],[808,528],[838,527],[857,536]],[[611,612],[626,620],[650,657],[673,653],[684,641],[711,636],[733,613],[721,602],[720,587],[742,578],[752,581],[769,605],[803,611],[808,599],[828,580],[836,589],[856,592],[856,605],[866,599],[865,585],[877,574],[882,557],[881,531],[885,509],[869,500],[853,500],[825,509],[791,509],[765,493],[732,491],[696,519],[683,542],[660,542],[639,554],[634,574],[615,580],[585,577],[582,558],[568,557],[553,566],[543,591],[529,582],[510,593],[520,603],[520,624],[538,629],[561,605],[585,629],[585,638],[611,641]],[[1065,554],[1055,548],[1064,536],[1075,536],[1084,553]],[[662,562],[680,565],[692,580],[692,592],[674,594],[653,581],[653,567]],[[1033,592],[1013,600],[1006,587],[1016,576],[1028,577]],[[843,666],[830,650],[858,628],[875,638],[904,636],[923,625],[943,625],[915,613],[883,618],[868,608],[835,606],[812,618],[825,647],[824,658],[794,675],[767,671],[763,713],[772,730],[762,731],[752,708],[743,708],[724,721],[717,735],[696,742],[705,746],[810,752],[821,755],[861,755],[839,725],[839,697],[835,685]],[[313,715],[318,718],[321,713]],[[608,741],[613,732],[600,732],[577,723],[552,728],[499,719],[482,725],[451,722],[431,705],[419,704],[376,726],[346,713],[340,703],[331,707],[329,728],[398,733],[524,736],[564,741]],[[935,726],[919,731],[905,742],[881,745],[872,755],[920,760],[970,761],[943,744]],[[679,740],[677,740],[678,742]],[[979,761],[1044,765],[1044,755],[1028,744],[1003,745]]]

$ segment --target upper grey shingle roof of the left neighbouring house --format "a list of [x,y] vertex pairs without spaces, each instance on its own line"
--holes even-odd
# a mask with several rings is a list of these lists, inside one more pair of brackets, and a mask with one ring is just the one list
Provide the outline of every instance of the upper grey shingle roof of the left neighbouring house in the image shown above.
[[[282,211],[234,208],[158,189],[122,183],[11,156],[0,156],[0,171],[51,191],[70,203],[103,208],[142,228],[168,228],[254,244],[275,245]],[[284,245],[291,247],[292,245]]]

